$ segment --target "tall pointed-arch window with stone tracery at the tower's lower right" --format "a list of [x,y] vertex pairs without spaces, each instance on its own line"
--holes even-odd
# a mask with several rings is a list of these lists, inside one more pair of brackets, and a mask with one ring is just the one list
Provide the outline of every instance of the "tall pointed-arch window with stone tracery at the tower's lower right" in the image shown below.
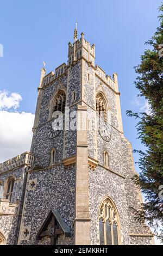
[[120,245],[120,220],[110,198],[103,200],[99,210],[100,245]]

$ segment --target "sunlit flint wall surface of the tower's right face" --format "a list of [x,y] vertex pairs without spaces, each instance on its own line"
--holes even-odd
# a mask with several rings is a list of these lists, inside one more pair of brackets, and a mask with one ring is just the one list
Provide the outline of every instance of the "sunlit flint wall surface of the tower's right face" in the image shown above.
[[[87,74],[91,74],[91,83],[87,81]],[[111,124],[111,138],[109,142],[99,134],[96,129],[96,105],[95,95],[101,92],[104,95],[109,108],[109,120]],[[132,176],[131,151],[127,139],[118,131],[117,106],[115,93],[104,84],[97,76],[93,75],[92,68],[85,64],[84,70],[84,96],[89,107],[87,108],[88,126],[87,132],[89,156],[98,160],[101,166],[95,170],[89,170],[89,204],[91,217],[91,244],[99,244],[98,211],[102,200],[109,196],[116,205],[120,215],[122,244],[143,245],[152,244],[152,237],[135,237],[129,234],[149,234],[147,227],[139,225],[134,220],[130,207],[138,208],[139,195],[136,190]],[[92,120],[92,121],[90,121]],[[104,151],[109,153],[109,169],[104,166]],[[113,172],[117,173],[114,174]],[[123,177],[119,176],[122,175]]]

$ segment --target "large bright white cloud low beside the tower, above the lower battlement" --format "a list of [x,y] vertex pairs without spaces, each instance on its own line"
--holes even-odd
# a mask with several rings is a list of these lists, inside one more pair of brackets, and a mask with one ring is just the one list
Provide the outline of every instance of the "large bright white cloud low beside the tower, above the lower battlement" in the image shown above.
[[0,162],[30,151],[34,114],[0,111]]

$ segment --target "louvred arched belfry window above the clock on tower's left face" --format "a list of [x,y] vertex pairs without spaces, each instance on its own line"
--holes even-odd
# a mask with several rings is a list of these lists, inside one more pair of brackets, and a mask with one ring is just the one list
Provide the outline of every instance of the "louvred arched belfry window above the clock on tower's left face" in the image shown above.
[[60,90],[53,101],[52,115],[54,112],[57,112],[57,111],[65,113],[65,102],[66,102],[65,92]]

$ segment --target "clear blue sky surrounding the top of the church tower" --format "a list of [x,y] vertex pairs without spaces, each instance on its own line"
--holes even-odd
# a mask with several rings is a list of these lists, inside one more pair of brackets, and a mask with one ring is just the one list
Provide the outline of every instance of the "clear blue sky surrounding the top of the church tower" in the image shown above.
[[[157,16],[161,2],[1,0],[0,44],[4,56],[0,57],[0,91],[20,94],[22,100],[15,107],[16,111],[34,114],[42,63],[45,60],[48,73],[67,62],[67,44],[73,41],[73,29],[78,21],[78,35],[84,32],[85,39],[96,45],[96,64],[106,74],[118,74],[124,134],[133,144],[133,149],[141,149],[141,142],[136,139],[136,122],[126,116],[126,110],[140,111],[145,103],[135,101],[137,91],[133,84],[136,77],[133,67],[140,63],[140,56],[147,47],[145,41],[159,25]],[[15,110],[8,107],[5,111]],[[2,121],[5,122],[5,117],[0,120],[1,127]],[[33,119],[29,123],[32,122]],[[11,122],[7,125],[11,126],[12,135]],[[20,141],[23,140],[20,138]],[[6,151],[15,147],[11,153],[19,154],[18,150],[27,144],[18,148],[8,143]],[[0,160],[4,161],[5,157],[3,155]],[[134,158],[136,161],[137,155]],[[139,171],[137,166],[136,169]]]

